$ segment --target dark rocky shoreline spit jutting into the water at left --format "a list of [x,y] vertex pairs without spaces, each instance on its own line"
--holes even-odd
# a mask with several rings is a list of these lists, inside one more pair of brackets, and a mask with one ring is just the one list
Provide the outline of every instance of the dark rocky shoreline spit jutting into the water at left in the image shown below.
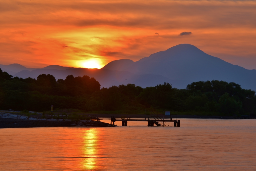
[[57,126],[98,126],[114,127],[109,123],[93,120],[38,119],[24,115],[0,112],[0,128],[57,127]]

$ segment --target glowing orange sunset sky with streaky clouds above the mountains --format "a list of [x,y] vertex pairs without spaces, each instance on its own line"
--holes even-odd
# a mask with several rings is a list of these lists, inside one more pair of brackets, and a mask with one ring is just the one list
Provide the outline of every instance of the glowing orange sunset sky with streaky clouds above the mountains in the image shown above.
[[182,43],[256,69],[256,2],[0,0],[3,65],[101,68]]

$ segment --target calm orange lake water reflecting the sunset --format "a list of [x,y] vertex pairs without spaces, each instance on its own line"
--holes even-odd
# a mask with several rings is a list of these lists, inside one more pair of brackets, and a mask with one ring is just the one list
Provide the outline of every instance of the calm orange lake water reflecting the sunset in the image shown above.
[[0,129],[0,170],[256,170],[256,120],[180,120]]

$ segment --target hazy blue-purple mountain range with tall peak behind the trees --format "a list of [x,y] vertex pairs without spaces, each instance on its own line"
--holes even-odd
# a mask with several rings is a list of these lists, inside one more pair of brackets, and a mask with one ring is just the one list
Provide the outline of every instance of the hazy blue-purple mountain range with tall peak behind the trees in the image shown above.
[[175,88],[183,89],[194,81],[223,80],[256,90],[256,70],[232,65],[190,44],[180,44],[136,62],[129,59],[115,60],[101,69],[58,65],[38,69],[19,64],[0,65],[0,68],[21,78],[37,78],[42,73],[52,74],[56,79],[65,79],[70,74],[74,77],[88,75],[99,81],[101,87],[127,83],[150,87],[168,82]]

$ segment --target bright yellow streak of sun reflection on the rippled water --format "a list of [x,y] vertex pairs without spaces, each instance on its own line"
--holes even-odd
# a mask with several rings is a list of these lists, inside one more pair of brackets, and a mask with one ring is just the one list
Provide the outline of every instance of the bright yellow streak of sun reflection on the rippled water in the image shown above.
[[81,149],[84,156],[82,169],[95,170],[98,168],[98,132],[97,129],[84,130],[83,147]]

